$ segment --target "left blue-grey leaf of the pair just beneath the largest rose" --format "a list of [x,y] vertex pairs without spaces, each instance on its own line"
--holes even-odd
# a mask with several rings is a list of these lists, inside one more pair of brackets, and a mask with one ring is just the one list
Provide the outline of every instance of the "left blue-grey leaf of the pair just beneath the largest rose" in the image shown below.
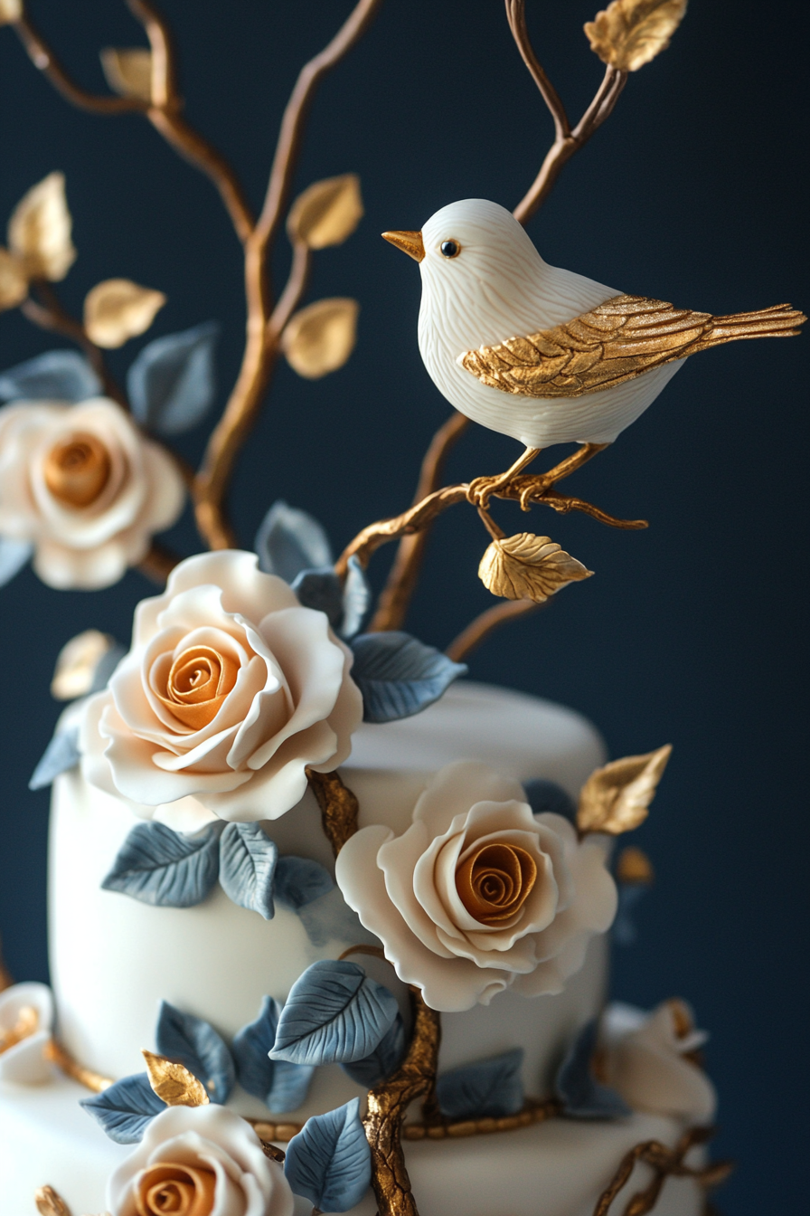
[[131,895],[141,903],[188,908],[210,894],[220,868],[220,827],[193,837],[164,823],[136,823],[104,877],[106,891]]

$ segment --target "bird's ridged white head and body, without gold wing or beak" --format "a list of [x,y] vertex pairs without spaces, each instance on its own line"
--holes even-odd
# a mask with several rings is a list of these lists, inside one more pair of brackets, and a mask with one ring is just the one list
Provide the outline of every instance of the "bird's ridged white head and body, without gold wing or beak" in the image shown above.
[[[613,388],[572,398],[531,398],[481,383],[459,362],[477,347],[537,333],[621,294],[543,261],[504,207],[466,198],[436,212],[421,230],[419,350],[434,383],[468,418],[527,447],[612,443],[655,401],[682,360]],[[455,258],[441,253],[455,241]]]

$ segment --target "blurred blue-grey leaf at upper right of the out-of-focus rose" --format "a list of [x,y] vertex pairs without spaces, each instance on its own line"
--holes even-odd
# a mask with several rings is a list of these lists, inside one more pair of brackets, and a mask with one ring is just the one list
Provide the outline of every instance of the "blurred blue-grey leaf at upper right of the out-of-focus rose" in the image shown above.
[[214,404],[214,348],[220,327],[205,321],[182,333],[155,338],[126,376],[135,418],[159,435],[191,430]]

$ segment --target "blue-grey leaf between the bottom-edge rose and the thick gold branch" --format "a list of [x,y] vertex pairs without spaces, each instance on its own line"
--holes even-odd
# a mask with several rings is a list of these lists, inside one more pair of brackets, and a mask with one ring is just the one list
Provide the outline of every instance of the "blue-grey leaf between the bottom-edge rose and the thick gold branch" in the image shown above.
[[307,1119],[287,1148],[287,1181],[321,1211],[355,1207],[372,1181],[372,1153],[359,1119],[359,1098]]

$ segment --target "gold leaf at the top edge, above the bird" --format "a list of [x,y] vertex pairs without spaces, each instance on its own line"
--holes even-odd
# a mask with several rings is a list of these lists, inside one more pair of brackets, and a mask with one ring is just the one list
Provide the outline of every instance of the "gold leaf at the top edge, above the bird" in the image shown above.
[[602,63],[638,72],[667,50],[685,15],[686,0],[613,0],[585,24],[585,34]]

